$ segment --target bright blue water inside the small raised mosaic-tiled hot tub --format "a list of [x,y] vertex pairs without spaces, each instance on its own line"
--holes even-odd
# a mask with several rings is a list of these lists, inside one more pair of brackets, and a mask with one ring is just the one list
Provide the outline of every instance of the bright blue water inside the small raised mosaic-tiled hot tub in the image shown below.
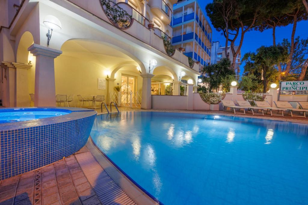
[[19,122],[27,120],[42,119],[69,114],[71,111],[27,111],[22,112],[0,112],[0,123]]

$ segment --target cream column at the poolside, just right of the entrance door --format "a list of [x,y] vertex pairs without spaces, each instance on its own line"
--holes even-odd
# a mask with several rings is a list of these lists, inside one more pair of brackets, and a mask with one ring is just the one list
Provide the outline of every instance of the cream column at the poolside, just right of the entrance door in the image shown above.
[[141,109],[152,108],[152,96],[151,96],[151,79],[154,76],[151,73],[140,74],[142,77],[142,99]]

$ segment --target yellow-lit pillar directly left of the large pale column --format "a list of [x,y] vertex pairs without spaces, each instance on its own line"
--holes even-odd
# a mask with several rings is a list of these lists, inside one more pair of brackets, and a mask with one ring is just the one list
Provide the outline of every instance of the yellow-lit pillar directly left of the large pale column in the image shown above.
[[28,69],[32,65],[23,63],[12,63],[16,68],[15,71],[15,107],[29,106],[29,90],[28,90]]

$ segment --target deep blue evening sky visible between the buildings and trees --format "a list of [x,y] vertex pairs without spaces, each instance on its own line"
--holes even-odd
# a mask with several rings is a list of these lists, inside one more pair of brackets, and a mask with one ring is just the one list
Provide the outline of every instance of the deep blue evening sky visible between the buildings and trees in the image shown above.
[[[213,2],[212,0],[198,0],[199,4],[205,12],[205,6],[208,3]],[[211,23],[209,17],[207,17],[207,20]],[[213,25],[211,24],[212,27],[212,41],[219,41],[222,45],[225,44],[225,37],[221,35],[220,32],[218,32]],[[284,38],[288,38],[290,41],[291,38],[291,33],[292,33],[292,27],[293,24],[285,26],[285,27],[279,27],[276,28],[276,43],[278,44],[279,42],[282,41]],[[301,21],[298,22],[297,27],[296,27],[296,33],[295,37],[300,36],[301,38],[307,38],[308,37],[308,21]],[[236,45],[239,43],[240,37],[237,37]],[[269,46],[273,45],[273,37],[272,37],[272,29],[265,30],[262,33],[259,31],[249,31],[245,33],[244,36],[244,41],[243,45],[241,47],[241,53],[242,56],[244,56],[245,53],[250,52],[250,51],[255,51],[257,48],[259,48],[261,45]],[[241,74],[244,71],[244,65],[241,65]]]

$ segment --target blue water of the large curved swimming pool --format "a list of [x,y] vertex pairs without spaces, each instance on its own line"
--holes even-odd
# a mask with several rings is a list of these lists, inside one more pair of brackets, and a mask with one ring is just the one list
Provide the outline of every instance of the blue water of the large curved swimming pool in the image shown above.
[[91,137],[164,204],[308,204],[308,125],[166,112],[99,115]]

